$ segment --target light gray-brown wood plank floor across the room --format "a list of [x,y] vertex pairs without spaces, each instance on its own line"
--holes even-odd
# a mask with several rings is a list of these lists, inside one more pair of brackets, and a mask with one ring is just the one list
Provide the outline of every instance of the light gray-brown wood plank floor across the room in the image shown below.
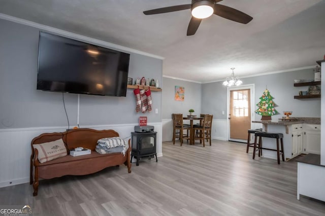
[[0,204],[34,215],[325,215],[325,202],[297,200],[297,162],[252,160],[246,145],[163,143],[164,157],[96,174],[0,188]]

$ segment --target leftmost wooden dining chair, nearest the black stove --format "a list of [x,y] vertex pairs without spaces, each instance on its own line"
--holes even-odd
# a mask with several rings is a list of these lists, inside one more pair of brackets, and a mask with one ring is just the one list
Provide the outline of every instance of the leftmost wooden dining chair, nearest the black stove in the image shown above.
[[[176,138],[179,138],[181,146],[183,144],[183,139],[186,139],[187,142],[190,139],[189,130],[191,129],[189,124],[183,124],[183,114],[172,114],[173,118],[173,145],[175,145]],[[184,130],[186,129],[186,134]]]

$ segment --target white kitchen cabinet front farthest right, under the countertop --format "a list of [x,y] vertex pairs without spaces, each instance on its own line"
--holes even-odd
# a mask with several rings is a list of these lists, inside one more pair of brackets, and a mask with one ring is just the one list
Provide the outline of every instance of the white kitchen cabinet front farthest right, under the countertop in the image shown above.
[[303,152],[320,154],[320,125],[304,125]]

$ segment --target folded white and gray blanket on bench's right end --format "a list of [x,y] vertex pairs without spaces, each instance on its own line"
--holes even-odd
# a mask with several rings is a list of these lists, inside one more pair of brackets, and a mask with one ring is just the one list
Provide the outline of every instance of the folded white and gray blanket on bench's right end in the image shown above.
[[[118,148],[119,147],[119,148]],[[125,140],[119,137],[103,138],[97,141],[96,152],[99,154],[107,154],[113,152],[121,152],[125,156],[128,148]]]

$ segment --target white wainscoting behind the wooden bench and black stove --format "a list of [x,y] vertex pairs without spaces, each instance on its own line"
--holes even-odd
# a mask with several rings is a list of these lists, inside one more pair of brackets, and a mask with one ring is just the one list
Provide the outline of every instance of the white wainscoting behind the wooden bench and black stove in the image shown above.
[[[163,156],[161,122],[149,122],[157,132],[157,157]],[[131,138],[137,124],[84,125],[81,128],[114,129],[122,138]],[[64,132],[67,127],[28,127],[0,129],[0,188],[29,182],[33,138],[43,133]],[[133,164],[135,165],[135,164]]]

